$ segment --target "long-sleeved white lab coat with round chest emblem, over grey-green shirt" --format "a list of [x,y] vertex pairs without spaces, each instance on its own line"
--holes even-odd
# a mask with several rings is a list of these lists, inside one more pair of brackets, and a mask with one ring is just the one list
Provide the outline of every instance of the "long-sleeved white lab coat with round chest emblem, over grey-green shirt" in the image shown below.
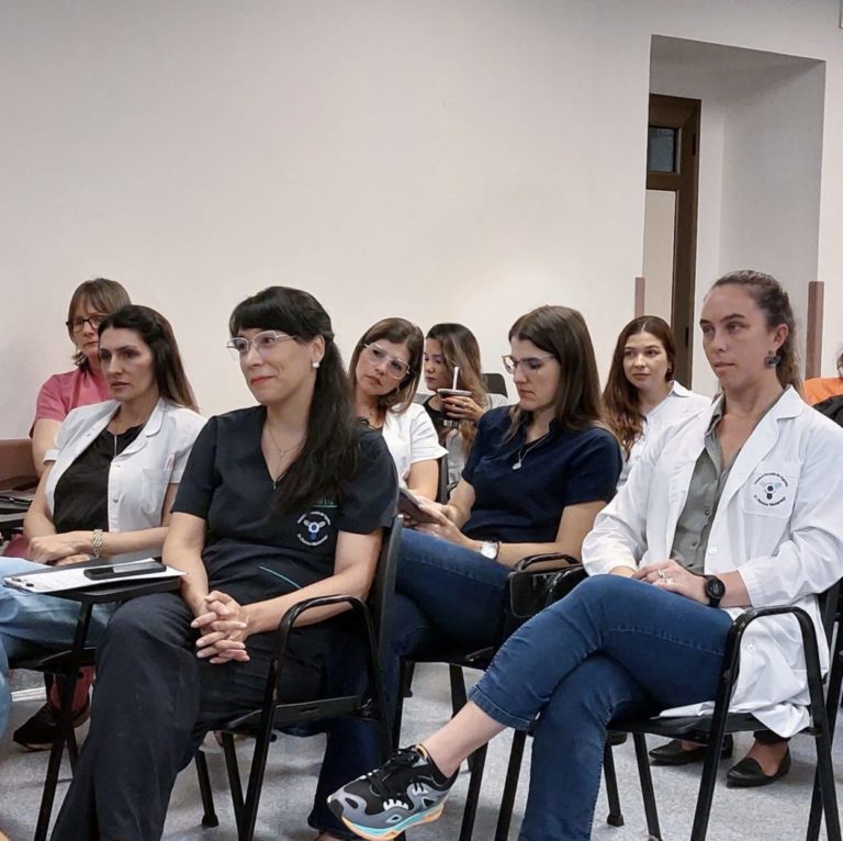
[[[636,569],[670,557],[676,522],[713,407],[648,447],[629,481],[597,516],[583,545],[588,574]],[[711,525],[706,572],[739,570],[753,606],[798,605],[813,619],[820,660],[828,649],[817,593],[843,578],[843,429],[788,389],[735,459]],[[681,597],[681,596],[677,596]],[[737,617],[740,608],[729,608]],[[754,623],[743,638],[731,708],[780,736],[808,724],[807,680],[793,617]],[[666,710],[709,711],[711,703]]]

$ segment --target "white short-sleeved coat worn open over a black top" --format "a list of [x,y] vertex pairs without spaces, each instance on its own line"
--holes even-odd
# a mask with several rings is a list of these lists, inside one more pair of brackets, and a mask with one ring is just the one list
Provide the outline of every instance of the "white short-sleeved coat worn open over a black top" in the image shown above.
[[[55,462],[44,487],[47,508],[55,507],[61,474],[90,447],[117,411],[116,401],[75,408],[64,420],[45,462]],[[204,418],[183,406],[159,400],[137,438],[111,462],[109,469],[109,531],[136,531],[161,525],[164,497],[184,472],[193,441]],[[116,556],[121,561],[148,558],[148,549]]]

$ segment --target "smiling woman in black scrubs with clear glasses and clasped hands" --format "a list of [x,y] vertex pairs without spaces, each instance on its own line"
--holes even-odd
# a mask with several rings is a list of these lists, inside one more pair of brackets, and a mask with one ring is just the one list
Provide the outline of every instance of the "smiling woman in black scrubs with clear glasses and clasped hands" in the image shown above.
[[[229,328],[260,405],[212,417],[196,440],[164,551],[188,572],[181,597],[137,598],[114,614],[54,839],[160,838],[176,775],[202,733],[260,704],[283,614],[313,596],[364,596],[372,582],[397,480],[381,436],[355,419],[327,313],[306,292],[272,287],[239,304]],[[303,617],[282,700],[364,680],[341,612]],[[319,841],[353,838],[326,797],[376,759],[370,729],[346,720],[328,730],[308,819]]]

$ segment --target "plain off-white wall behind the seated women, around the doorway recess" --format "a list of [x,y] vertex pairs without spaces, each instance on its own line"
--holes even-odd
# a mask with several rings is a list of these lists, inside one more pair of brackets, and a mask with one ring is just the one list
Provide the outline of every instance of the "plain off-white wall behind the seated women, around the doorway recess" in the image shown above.
[[67,299],[94,274],[171,318],[206,412],[249,400],[226,318],[273,282],[321,298],[346,350],[383,315],[457,319],[488,369],[518,314],[566,303],[605,366],[642,267],[653,33],[828,63],[839,324],[838,2],[738,5],[2,0],[0,437],[67,367]]

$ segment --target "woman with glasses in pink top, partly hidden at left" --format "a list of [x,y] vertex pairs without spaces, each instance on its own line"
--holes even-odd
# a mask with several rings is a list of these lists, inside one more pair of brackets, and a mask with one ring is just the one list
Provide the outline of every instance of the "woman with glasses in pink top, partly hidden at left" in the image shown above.
[[67,333],[76,346],[76,368],[53,374],[38,392],[35,420],[32,424],[32,460],[35,472],[44,472],[44,453],[72,408],[109,400],[105,380],[97,356],[97,328],[100,321],[121,306],[131,304],[128,293],[116,280],[97,278],[76,288],[67,311]]

